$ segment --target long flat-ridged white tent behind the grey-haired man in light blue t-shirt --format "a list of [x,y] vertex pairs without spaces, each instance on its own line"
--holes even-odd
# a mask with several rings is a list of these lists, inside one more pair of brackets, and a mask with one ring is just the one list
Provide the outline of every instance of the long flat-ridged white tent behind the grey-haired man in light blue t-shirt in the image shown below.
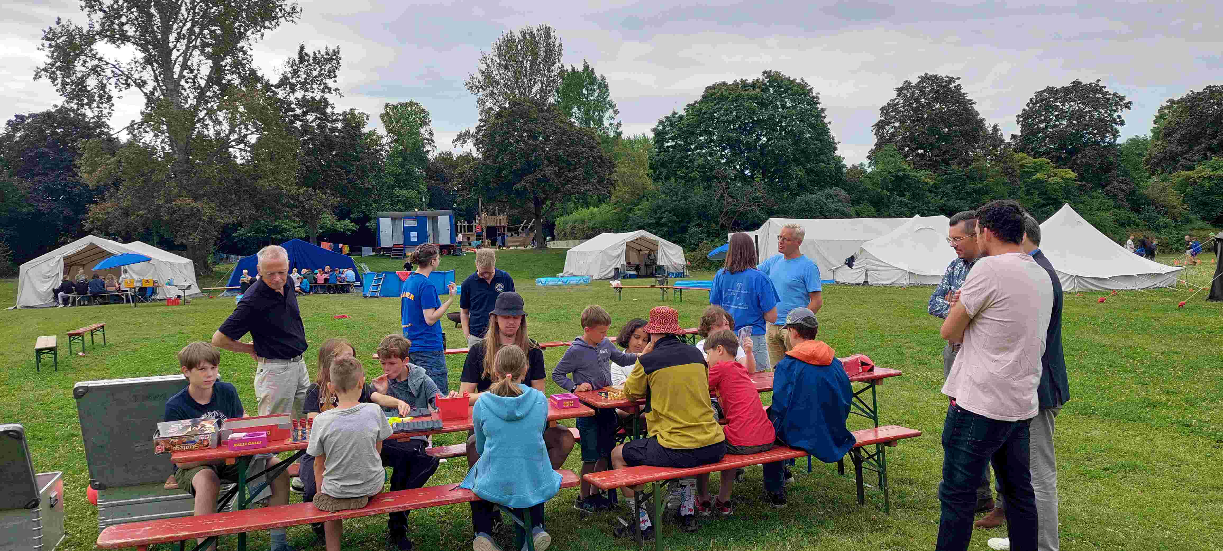
[[[819,268],[819,277],[833,279],[833,271],[857,252],[862,243],[883,237],[909,219],[768,219],[753,232],[758,261],[777,254],[777,236],[781,226],[797,224],[806,230],[799,252]],[[728,236],[729,237],[729,236]]]

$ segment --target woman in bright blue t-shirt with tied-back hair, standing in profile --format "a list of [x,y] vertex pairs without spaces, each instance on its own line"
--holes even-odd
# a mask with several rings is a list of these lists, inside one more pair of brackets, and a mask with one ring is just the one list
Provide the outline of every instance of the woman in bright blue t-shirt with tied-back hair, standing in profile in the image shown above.
[[416,271],[408,274],[400,294],[400,316],[404,324],[404,336],[412,341],[407,359],[429,374],[442,393],[450,390],[446,376],[446,343],[442,338],[442,325],[438,324],[450,303],[455,299],[455,285],[446,283],[450,298],[445,303],[438,299],[438,290],[429,281],[429,274],[442,263],[438,246],[428,243],[416,248],[407,257],[404,268],[415,264]]

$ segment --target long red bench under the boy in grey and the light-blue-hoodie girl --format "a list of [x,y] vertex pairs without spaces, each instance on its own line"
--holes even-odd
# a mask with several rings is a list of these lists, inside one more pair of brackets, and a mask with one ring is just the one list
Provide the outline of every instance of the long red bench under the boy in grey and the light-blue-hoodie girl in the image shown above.
[[[577,486],[577,474],[572,470],[558,469],[560,487]],[[388,491],[369,500],[369,505],[360,509],[319,511],[313,503],[291,503],[275,507],[232,511],[226,513],[204,514],[199,517],[166,518],[130,524],[106,527],[98,534],[99,549],[136,547],[146,551],[155,544],[170,544],[193,539],[216,538],[227,534],[240,534],[273,528],[296,527],[301,524],[342,520],[347,518],[371,517],[399,511],[423,509],[443,505],[467,503],[478,501],[471,490],[456,489],[455,484],[418,487],[415,490]]]

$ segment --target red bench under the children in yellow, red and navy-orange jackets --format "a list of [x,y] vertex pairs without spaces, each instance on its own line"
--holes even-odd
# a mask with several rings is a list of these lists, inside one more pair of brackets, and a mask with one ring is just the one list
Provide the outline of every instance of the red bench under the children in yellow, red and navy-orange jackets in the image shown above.
[[[896,442],[904,439],[912,439],[921,436],[920,430],[906,429],[904,426],[885,425],[874,429],[862,429],[855,430],[854,437],[857,443],[850,451],[849,457],[854,462],[854,478],[857,483],[857,502],[859,505],[866,503],[866,492],[863,491],[865,484],[862,481],[862,470],[873,470],[879,475],[879,489],[883,490],[883,512],[887,513],[889,508],[888,503],[888,463],[887,456],[884,453],[885,447],[894,447]],[[874,445],[874,452],[866,450],[867,446]],[[591,483],[599,490],[614,490],[625,486],[642,486],[653,483],[654,489],[649,494],[654,498],[654,518],[662,522],[663,518],[663,502],[660,500],[659,484],[673,479],[692,478],[698,474],[708,474],[719,470],[736,469],[741,467],[750,467],[764,463],[775,463],[786,459],[797,459],[800,457],[806,457],[807,452],[802,450],[795,450],[785,446],[777,446],[773,450],[762,453],[752,453],[746,456],[726,454],[722,461],[717,463],[709,463],[707,465],[693,467],[689,469],[673,469],[667,467],[629,467],[626,469],[615,470],[603,470],[598,473],[591,473],[582,476],[587,483]],[[844,473],[841,473],[844,474]],[[636,505],[640,507],[649,497],[643,495],[646,492],[637,491],[634,498]],[[635,519],[634,519],[635,520]],[[637,524],[634,522],[634,527]],[[662,533],[654,531],[654,547],[662,549]],[[641,534],[637,534],[638,544]]]

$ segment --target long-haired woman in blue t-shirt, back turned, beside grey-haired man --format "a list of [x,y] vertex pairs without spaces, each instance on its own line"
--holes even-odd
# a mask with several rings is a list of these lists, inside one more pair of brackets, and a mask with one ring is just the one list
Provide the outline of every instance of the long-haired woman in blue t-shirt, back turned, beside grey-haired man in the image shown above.
[[756,370],[768,369],[764,324],[777,321],[777,290],[763,271],[756,269],[756,246],[747,233],[730,236],[726,260],[713,276],[709,304],[717,304],[735,319],[735,331],[752,327],[752,354]]

